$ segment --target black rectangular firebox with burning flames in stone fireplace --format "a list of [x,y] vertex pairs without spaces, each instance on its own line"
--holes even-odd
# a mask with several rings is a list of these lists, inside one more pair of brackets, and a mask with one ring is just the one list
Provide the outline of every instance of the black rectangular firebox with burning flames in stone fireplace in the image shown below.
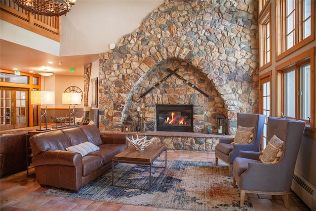
[[193,132],[193,105],[156,105],[157,131]]

